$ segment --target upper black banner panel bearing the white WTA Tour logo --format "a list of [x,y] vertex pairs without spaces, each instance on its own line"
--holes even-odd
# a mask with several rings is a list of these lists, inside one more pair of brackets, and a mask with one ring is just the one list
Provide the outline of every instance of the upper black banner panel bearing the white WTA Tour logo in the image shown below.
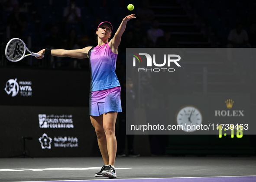
[[0,105],[88,106],[90,72],[0,69]]

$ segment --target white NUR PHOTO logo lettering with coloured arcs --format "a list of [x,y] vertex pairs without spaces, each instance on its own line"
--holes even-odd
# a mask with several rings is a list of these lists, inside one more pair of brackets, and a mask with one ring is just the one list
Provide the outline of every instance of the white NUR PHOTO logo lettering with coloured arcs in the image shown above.
[[[139,53],[139,54],[136,54],[136,53],[133,53],[132,52],[132,55],[134,56],[133,57],[133,66],[136,66],[136,58],[137,60],[139,61],[139,63],[142,63],[142,59],[141,59],[141,56],[139,55],[144,55],[146,56],[146,66],[147,68],[138,68],[138,72],[139,71],[149,71],[149,72],[160,72],[160,71],[168,71],[168,72],[174,72],[175,69],[174,68],[151,68],[151,69],[148,69],[148,67],[152,67],[152,60],[153,60],[153,64],[154,66],[157,66],[157,67],[163,67],[166,65],[167,63],[167,66],[170,67],[171,63],[175,63],[178,67],[181,67],[179,63],[177,63],[178,61],[181,60],[181,56],[177,55],[177,54],[164,54],[163,56],[163,63],[162,64],[157,64],[156,63],[156,54],[153,54],[153,59],[152,59],[152,56],[150,56],[148,53]],[[171,58],[178,58],[178,59],[171,59]]]

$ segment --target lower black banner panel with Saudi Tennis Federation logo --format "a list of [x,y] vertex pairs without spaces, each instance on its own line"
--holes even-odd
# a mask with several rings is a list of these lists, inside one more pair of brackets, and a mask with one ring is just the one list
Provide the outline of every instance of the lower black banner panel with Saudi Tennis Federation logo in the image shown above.
[[32,157],[97,155],[88,107],[0,106],[0,110],[0,157],[22,155],[24,141],[26,154]]

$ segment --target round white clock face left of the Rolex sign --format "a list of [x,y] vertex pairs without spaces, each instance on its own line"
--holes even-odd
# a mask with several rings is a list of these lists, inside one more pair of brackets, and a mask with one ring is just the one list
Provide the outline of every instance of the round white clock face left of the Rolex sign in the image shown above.
[[[196,126],[201,125],[202,123],[202,114],[198,108],[194,106],[185,106],[182,107],[180,110],[178,110],[178,113],[176,115],[176,122],[178,125],[183,126],[184,132],[194,132],[196,131]],[[187,126],[193,126],[188,128]],[[194,127],[195,126],[195,127]],[[181,128],[182,129],[182,128]],[[199,129],[199,126],[198,126]]]

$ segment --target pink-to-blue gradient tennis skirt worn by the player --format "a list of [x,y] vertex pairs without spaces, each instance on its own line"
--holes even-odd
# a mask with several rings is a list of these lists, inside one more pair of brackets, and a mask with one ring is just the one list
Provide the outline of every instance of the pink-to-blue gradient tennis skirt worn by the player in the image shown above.
[[89,115],[100,116],[108,112],[122,112],[120,87],[101,91],[91,91],[89,96]]

